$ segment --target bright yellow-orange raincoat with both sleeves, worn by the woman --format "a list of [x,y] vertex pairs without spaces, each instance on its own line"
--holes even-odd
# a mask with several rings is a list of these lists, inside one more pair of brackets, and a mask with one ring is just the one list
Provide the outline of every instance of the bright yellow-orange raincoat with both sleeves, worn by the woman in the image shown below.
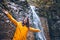
[[32,27],[22,26],[22,22],[17,22],[9,13],[6,14],[10,21],[16,26],[16,31],[12,40],[26,40],[28,31],[39,32],[40,30]]

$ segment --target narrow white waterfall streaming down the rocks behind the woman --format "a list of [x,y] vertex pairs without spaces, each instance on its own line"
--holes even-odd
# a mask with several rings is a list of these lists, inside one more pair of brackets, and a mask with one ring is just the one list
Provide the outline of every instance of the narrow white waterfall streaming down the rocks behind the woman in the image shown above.
[[40,18],[38,17],[38,15],[35,12],[35,6],[30,6],[31,7],[31,11],[33,13],[33,26],[37,29],[40,29],[41,32],[35,33],[35,40],[46,40],[45,36],[44,36],[44,31],[43,28],[41,26],[41,21]]

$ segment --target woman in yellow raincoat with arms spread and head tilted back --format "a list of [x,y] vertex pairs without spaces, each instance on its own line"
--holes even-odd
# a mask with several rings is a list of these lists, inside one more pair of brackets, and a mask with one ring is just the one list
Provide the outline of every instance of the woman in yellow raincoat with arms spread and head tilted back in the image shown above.
[[29,19],[26,17],[23,21],[17,22],[8,11],[3,10],[12,23],[16,26],[16,31],[13,40],[26,40],[28,31],[40,32],[39,29],[34,29],[29,26]]

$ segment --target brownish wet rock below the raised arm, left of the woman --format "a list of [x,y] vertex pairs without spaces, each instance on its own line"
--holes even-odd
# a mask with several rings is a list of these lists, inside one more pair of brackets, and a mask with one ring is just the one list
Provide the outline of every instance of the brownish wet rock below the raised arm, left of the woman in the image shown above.
[[0,12],[0,40],[11,40],[15,26],[10,22],[6,15]]

